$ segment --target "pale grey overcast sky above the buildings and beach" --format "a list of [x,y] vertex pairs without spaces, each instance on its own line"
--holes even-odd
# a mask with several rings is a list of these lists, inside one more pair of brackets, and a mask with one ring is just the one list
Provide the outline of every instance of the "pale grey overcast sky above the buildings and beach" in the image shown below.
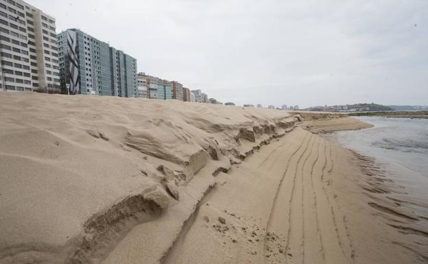
[[220,101],[428,104],[428,1],[27,0]]

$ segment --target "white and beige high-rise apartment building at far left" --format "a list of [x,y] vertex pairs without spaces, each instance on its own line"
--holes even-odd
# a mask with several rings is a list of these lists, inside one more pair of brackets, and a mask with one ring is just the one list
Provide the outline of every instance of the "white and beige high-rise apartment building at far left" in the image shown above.
[[60,91],[55,30],[38,8],[0,0],[0,91]]

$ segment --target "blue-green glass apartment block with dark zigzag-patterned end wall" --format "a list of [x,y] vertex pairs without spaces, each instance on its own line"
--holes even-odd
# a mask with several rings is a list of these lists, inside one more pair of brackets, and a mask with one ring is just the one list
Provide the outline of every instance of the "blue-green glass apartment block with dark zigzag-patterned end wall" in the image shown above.
[[67,29],[57,40],[62,93],[139,96],[135,58],[80,29]]

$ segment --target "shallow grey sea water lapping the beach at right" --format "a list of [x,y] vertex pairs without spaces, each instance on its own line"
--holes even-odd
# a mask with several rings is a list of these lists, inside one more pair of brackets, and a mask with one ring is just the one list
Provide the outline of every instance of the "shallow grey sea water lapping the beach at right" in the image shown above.
[[374,125],[342,131],[335,139],[359,154],[376,158],[387,177],[403,189],[408,207],[428,219],[428,119],[357,117]]

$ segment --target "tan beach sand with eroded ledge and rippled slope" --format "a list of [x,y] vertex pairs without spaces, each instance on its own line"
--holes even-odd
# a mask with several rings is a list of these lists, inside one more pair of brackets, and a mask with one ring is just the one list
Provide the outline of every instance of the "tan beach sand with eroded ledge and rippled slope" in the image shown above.
[[317,134],[357,119],[1,93],[0,125],[0,263],[428,261],[418,201]]

